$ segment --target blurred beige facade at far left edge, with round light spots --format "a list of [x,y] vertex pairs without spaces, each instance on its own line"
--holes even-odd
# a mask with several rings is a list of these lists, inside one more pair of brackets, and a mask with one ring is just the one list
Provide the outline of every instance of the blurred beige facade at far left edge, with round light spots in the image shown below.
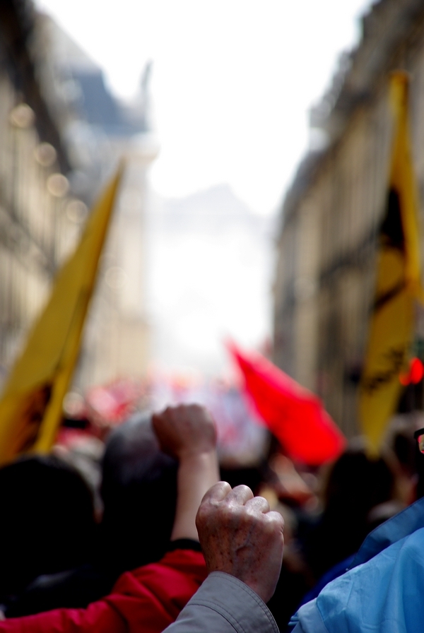
[[33,24],[27,3],[0,3],[0,382],[78,234],[66,211],[71,164],[42,95]]

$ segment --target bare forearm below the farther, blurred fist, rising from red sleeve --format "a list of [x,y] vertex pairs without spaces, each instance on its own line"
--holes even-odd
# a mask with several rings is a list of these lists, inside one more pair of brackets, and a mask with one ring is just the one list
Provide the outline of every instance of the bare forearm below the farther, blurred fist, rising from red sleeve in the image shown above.
[[216,451],[181,456],[178,468],[178,499],[171,540],[197,540],[196,512],[206,491],[219,480]]

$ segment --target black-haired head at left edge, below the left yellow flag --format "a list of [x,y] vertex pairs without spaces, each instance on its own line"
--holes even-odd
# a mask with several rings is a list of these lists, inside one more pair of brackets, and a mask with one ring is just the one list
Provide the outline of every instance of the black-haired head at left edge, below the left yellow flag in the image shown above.
[[87,562],[93,497],[74,468],[54,456],[18,459],[0,468],[0,499],[0,595]]

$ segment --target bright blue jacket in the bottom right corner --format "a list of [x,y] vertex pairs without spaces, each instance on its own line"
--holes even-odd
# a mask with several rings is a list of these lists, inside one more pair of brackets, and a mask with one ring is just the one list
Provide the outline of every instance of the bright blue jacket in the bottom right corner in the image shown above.
[[372,531],[351,568],[292,618],[293,633],[424,631],[424,499]]

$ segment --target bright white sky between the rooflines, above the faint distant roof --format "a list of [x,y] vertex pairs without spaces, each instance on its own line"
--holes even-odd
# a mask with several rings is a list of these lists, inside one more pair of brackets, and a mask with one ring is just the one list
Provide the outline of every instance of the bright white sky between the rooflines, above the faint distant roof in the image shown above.
[[185,196],[227,182],[253,211],[281,201],[307,112],[370,0],[37,0],[122,97],[152,59],[160,158],[151,182]]

